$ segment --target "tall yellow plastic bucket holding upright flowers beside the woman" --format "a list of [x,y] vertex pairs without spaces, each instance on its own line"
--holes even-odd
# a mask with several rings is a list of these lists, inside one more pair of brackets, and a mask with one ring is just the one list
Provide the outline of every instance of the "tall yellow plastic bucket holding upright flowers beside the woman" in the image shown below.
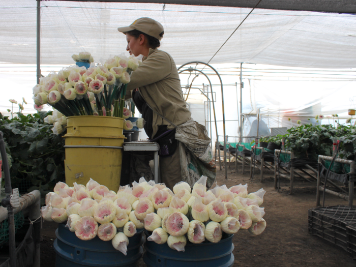
[[67,117],[66,183],[86,185],[90,178],[117,191],[123,160],[124,119],[109,116]]

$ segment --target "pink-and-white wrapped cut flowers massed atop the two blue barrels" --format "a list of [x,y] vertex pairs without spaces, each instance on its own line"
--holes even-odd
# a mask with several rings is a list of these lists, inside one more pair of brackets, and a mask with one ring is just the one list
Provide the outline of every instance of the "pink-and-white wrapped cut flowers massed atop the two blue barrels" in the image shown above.
[[81,240],[98,236],[111,241],[125,255],[130,237],[141,228],[147,231],[148,242],[167,243],[182,252],[189,242],[218,243],[240,229],[255,235],[264,231],[263,189],[248,193],[247,185],[240,184],[207,191],[206,178],[201,176],[193,189],[188,183],[177,183],[173,192],[143,177],[117,192],[92,179],[73,187],[60,182],[46,195],[42,217],[67,222]]

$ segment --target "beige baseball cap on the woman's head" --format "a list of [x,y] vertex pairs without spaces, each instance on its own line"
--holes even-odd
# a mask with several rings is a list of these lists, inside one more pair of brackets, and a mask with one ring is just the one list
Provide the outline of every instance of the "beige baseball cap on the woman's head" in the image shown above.
[[155,37],[158,40],[162,39],[160,34],[164,31],[161,23],[152,18],[146,17],[136,19],[130,26],[118,27],[117,31],[126,34],[127,32],[130,32],[133,29],[137,29],[137,31]]

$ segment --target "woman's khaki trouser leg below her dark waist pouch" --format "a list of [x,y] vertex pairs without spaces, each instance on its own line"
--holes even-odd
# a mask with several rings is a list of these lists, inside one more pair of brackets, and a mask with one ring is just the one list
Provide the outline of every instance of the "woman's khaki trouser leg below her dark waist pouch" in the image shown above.
[[161,183],[164,183],[170,190],[173,190],[176,183],[182,181],[179,142],[172,156],[160,157],[160,175]]

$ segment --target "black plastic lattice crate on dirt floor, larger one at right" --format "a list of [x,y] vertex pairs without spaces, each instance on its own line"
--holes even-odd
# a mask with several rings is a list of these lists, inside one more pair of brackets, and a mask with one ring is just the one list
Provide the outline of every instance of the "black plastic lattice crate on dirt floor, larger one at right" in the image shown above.
[[316,207],[308,210],[308,231],[344,250],[347,249],[346,227],[356,223],[356,209],[349,206]]

